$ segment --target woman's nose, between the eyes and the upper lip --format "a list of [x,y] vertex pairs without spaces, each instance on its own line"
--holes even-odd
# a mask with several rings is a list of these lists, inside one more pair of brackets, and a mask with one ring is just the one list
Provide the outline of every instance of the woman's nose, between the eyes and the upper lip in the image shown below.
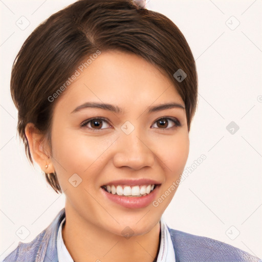
[[116,167],[127,166],[139,170],[154,165],[155,155],[150,149],[148,140],[140,137],[135,130],[129,135],[124,133],[120,135],[117,141],[117,152],[113,158]]

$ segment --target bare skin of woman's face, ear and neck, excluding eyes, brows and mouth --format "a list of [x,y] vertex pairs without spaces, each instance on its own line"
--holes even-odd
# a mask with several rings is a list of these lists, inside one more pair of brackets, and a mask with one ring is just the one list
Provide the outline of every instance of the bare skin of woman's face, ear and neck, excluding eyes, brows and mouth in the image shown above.
[[[160,219],[176,189],[154,207],[130,209],[104,197],[101,186],[118,179],[154,179],[161,183],[158,199],[185,167],[189,136],[183,108],[148,113],[148,106],[184,102],[173,83],[143,58],[121,51],[102,52],[60,95],[53,112],[51,142],[28,124],[26,135],[34,160],[46,172],[57,173],[66,196],[66,223],[62,229],[65,246],[78,261],[153,261],[158,253]],[[84,108],[85,102],[110,103],[122,108],[113,113]],[[93,117],[103,117],[96,127]],[[162,117],[176,118],[166,125]],[[101,120],[100,120],[101,121]],[[135,127],[126,135],[121,126]],[[100,128],[100,129],[99,129]],[[43,142],[43,144],[41,144]],[[48,168],[45,165],[48,164]],[[70,177],[82,182],[74,187]],[[129,227],[129,239],[122,230]]]

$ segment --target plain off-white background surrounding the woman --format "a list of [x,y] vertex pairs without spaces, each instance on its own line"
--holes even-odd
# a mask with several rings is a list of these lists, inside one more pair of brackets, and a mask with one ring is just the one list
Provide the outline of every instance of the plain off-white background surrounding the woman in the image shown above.
[[[53,192],[19,145],[9,89],[12,63],[23,42],[41,21],[73,2],[0,1],[0,259],[19,241],[34,239],[64,206],[64,195]],[[211,237],[261,258],[262,1],[150,0],[147,8],[165,14],[180,28],[199,77],[199,104],[185,167],[191,171],[164,220],[171,228]],[[19,19],[30,25],[21,30]],[[206,160],[195,167],[202,154]],[[21,226],[30,232],[25,240],[16,234]]]

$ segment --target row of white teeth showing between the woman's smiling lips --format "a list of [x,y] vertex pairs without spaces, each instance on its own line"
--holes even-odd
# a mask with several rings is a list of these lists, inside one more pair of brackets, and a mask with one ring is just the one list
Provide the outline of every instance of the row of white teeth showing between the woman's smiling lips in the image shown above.
[[104,185],[101,186],[103,190],[111,194],[122,195],[124,197],[144,197],[150,194],[158,185],[137,185],[137,186],[123,186],[123,185]]

